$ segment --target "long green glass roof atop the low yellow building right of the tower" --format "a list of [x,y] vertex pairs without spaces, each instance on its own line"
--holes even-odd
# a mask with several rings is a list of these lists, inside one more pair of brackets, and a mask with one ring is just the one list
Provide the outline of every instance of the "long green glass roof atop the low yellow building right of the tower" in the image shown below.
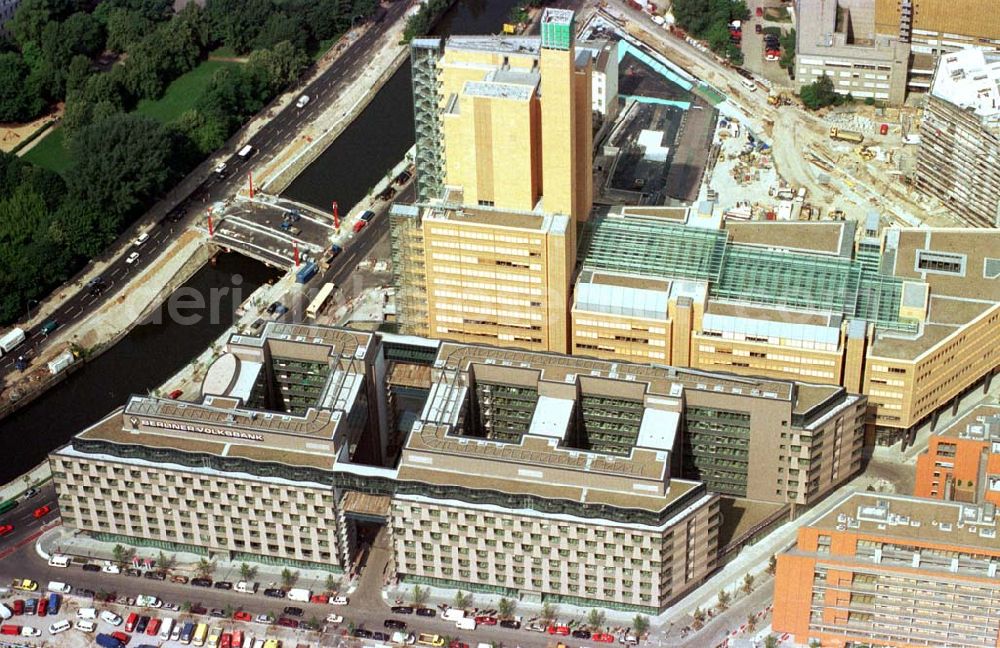
[[860,259],[766,250],[728,232],[660,219],[598,217],[587,223],[578,261],[587,268],[709,282],[714,298],[833,312],[878,326],[915,330],[899,318],[903,281]]

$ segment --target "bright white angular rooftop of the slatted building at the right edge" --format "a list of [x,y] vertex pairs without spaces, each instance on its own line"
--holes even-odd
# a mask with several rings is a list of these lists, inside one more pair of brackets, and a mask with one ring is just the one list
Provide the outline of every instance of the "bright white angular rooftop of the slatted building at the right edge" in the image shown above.
[[931,94],[1000,128],[1000,53],[964,49],[938,59]]

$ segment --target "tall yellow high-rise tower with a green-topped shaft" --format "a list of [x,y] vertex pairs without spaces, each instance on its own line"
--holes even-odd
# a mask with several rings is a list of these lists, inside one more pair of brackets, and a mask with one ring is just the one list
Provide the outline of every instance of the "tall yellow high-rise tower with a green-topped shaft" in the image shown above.
[[413,43],[418,204],[391,214],[407,332],[565,352],[592,204],[593,52],[573,12],[541,37]]

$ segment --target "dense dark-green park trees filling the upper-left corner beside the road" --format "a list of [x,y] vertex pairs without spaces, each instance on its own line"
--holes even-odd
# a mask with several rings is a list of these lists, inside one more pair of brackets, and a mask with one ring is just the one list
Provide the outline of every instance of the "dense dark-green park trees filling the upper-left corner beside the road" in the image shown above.
[[[0,120],[65,101],[64,177],[0,154],[0,323],[22,317],[293,83],[310,55],[376,0],[23,0],[0,43]],[[91,8],[93,9],[91,10]],[[134,112],[225,46],[195,107],[168,124]]]

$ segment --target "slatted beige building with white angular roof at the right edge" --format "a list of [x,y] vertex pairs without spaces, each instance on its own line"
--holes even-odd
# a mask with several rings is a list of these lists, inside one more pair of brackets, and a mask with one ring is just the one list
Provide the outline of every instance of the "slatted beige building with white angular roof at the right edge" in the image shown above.
[[1000,52],[941,56],[920,126],[917,187],[977,227],[1000,227],[998,83]]

